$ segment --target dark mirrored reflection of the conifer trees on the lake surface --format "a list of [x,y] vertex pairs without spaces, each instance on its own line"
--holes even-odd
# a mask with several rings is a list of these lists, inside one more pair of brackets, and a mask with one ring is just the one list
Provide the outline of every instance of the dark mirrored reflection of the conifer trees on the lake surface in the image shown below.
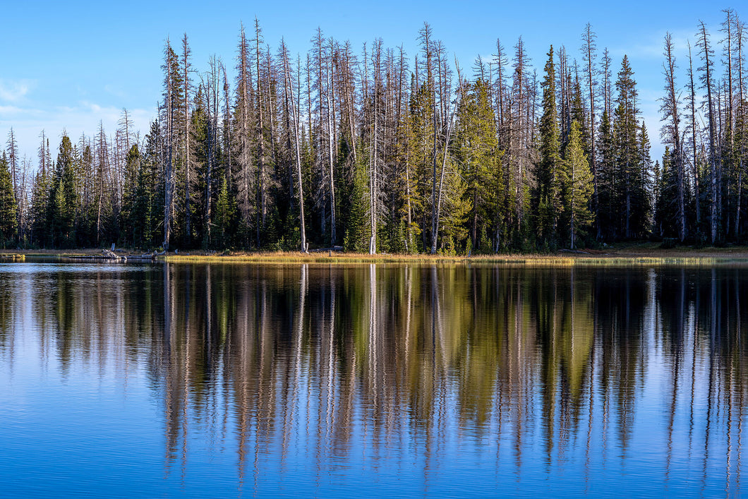
[[[260,454],[300,448],[330,466],[357,441],[375,456],[407,442],[428,461],[450,432],[509,444],[517,463],[533,441],[549,463],[573,448],[625,453],[656,370],[668,387],[667,466],[687,439],[704,470],[726,459],[739,483],[745,270],[165,265],[32,276],[29,289],[44,290],[31,294],[42,355],[62,369],[148,365],[169,463],[186,459],[193,426],[215,446],[236,435],[242,473]],[[21,299],[0,283],[10,360]],[[718,434],[728,456],[709,456]]]

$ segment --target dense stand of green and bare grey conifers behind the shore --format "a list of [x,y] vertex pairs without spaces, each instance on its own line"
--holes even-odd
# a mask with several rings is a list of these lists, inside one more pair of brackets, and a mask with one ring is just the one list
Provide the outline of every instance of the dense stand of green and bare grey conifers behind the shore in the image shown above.
[[[628,240],[745,242],[747,38],[734,10],[696,25],[686,60],[663,40],[652,162],[628,58],[586,25],[542,71],[520,38],[469,69],[424,23],[408,55],[318,28],[307,52],[239,29],[233,73],[163,48],[147,134],[0,154],[0,245],[490,254]],[[678,82],[679,65],[687,78]]]

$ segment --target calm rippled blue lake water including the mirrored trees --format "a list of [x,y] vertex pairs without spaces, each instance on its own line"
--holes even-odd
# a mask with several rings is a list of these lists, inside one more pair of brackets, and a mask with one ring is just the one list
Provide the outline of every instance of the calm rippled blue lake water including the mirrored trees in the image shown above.
[[735,497],[748,268],[0,264],[0,496]]

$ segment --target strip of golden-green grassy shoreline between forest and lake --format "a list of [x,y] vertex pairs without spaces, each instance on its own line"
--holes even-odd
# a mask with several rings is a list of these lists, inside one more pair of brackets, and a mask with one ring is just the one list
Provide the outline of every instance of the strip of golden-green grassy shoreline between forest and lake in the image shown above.
[[[554,254],[491,254],[447,256],[429,254],[358,254],[337,252],[233,252],[230,254],[188,251],[168,253],[156,257],[169,263],[263,263],[263,264],[369,264],[411,263],[420,265],[509,265],[509,266],[652,266],[687,265],[705,266],[720,264],[748,264],[748,247],[725,248],[659,248],[656,243],[616,245],[605,250],[582,250],[583,252],[560,251]],[[118,251],[119,254],[141,255],[141,251]],[[75,250],[0,250],[4,261],[22,261],[25,257],[100,257],[99,248]]]

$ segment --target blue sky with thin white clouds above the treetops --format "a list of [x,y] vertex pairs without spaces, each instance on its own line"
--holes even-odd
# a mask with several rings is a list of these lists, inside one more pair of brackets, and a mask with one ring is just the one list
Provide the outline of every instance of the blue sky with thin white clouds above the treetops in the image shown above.
[[[360,49],[381,37],[389,47],[417,52],[423,22],[470,68],[476,55],[494,53],[497,37],[511,48],[519,36],[539,73],[548,46],[565,46],[580,58],[580,35],[587,22],[598,34],[598,49],[607,47],[613,73],[628,54],[641,96],[641,108],[658,159],[659,104],[662,94],[662,40],[673,34],[678,62],[684,70],[685,40],[693,40],[699,20],[715,45],[721,35],[721,10],[739,5],[709,6],[704,1],[37,1],[6,2],[0,28],[0,140],[10,127],[22,154],[34,157],[42,129],[52,138],[56,156],[65,128],[76,140],[93,135],[102,120],[113,133],[123,107],[143,134],[156,114],[160,98],[162,50],[167,37],[187,33],[197,70],[207,69],[210,55],[234,66],[239,25],[260,20],[273,49],[284,37],[292,53],[306,52],[316,28],[325,36],[350,40]],[[738,15],[748,16],[738,10]],[[692,42],[693,43],[693,42]],[[581,60],[581,58],[580,58]],[[684,76],[678,83],[683,85]]]

